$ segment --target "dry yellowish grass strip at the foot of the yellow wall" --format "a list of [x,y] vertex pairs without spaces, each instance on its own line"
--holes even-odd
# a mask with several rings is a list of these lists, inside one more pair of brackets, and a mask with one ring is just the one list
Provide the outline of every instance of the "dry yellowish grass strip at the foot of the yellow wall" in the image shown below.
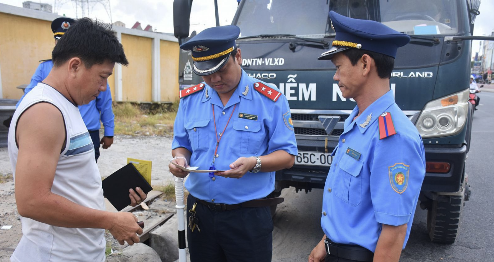
[[157,113],[141,110],[131,103],[114,104],[115,135],[171,136],[177,110],[178,101],[169,110]]

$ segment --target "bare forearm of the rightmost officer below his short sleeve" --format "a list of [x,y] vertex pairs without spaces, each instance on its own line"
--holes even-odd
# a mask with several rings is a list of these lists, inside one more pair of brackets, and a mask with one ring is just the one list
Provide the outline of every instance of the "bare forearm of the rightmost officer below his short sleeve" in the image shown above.
[[375,248],[374,261],[379,262],[397,262],[403,249],[403,243],[406,237],[407,225],[382,225],[381,235],[377,240]]

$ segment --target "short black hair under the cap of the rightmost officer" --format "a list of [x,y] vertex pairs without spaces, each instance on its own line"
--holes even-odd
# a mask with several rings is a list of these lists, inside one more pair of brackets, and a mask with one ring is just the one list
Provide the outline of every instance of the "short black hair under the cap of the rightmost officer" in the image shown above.
[[394,58],[391,56],[387,56],[382,53],[376,53],[367,50],[355,49],[351,48],[349,50],[341,52],[343,55],[348,57],[351,62],[351,65],[355,66],[358,60],[362,58],[364,54],[367,54],[375,61],[375,66],[377,67],[377,75],[381,79],[390,79],[391,73],[394,69]]

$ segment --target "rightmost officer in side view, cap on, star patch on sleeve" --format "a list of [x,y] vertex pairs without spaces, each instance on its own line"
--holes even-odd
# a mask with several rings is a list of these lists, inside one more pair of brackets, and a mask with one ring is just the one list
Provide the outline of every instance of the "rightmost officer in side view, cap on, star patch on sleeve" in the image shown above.
[[389,79],[398,47],[410,41],[375,21],[329,12],[335,40],[319,60],[357,106],[334,149],[322,201],[325,233],[309,261],[398,261],[425,176],[417,129],[394,101]]

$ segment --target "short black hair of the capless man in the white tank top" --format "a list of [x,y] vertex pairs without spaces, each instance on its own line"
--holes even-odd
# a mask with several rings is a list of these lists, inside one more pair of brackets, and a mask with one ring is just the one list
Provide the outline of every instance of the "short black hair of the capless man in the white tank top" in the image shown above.
[[86,68],[106,60],[128,65],[123,46],[111,26],[90,18],[78,19],[70,26],[51,53],[55,67],[73,57],[80,58]]

